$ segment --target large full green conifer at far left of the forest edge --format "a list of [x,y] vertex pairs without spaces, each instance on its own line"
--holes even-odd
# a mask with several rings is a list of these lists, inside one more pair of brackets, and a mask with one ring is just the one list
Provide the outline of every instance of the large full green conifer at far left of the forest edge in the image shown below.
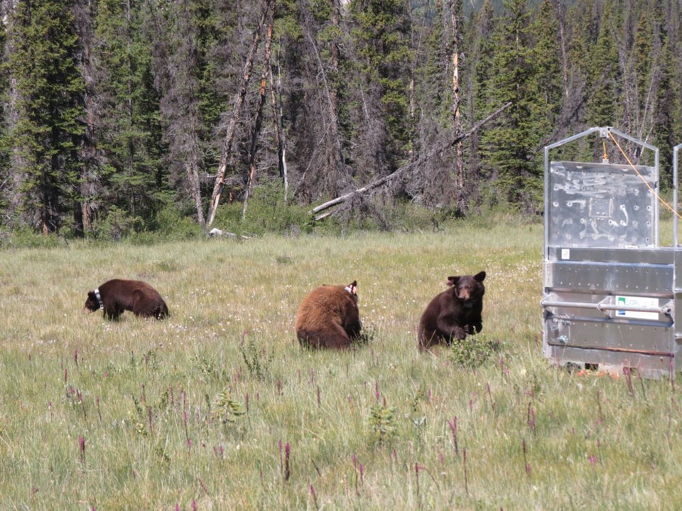
[[80,179],[84,83],[71,9],[67,0],[18,1],[10,25],[18,91],[11,142],[25,165],[13,172],[24,176],[23,208],[43,233],[60,231],[74,212]]

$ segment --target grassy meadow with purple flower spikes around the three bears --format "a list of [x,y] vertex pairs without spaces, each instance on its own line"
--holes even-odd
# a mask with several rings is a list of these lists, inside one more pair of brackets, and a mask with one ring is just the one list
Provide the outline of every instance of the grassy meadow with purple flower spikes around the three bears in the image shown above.
[[[681,382],[544,360],[541,247],[502,222],[0,252],[0,509],[681,509]],[[419,353],[480,270],[497,351]],[[171,317],[83,312],[110,278]],[[352,280],[367,344],[301,349],[303,296]]]

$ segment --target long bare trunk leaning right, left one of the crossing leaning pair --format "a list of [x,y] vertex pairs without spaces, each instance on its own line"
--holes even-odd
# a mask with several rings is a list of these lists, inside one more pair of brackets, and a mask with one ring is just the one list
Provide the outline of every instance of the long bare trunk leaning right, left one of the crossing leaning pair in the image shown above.
[[215,176],[215,184],[213,185],[213,193],[211,195],[211,203],[209,204],[208,214],[206,218],[206,226],[210,226],[215,219],[215,212],[218,209],[218,204],[220,203],[220,196],[222,194],[222,187],[225,185],[225,172],[227,172],[227,161],[229,160],[229,153],[232,150],[232,138],[234,138],[234,131],[237,128],[237,123],[239,122],[239,113],[242,109],[242,104],[244,104],[244,97],[247,95],[247,87],[249,86],[249,81],[251,80],[251,70],[254,66],[254,58],[256,57],[256,50],[258,50],[258,45],[261,38],[261,30],[271,11],[274,0],[263,0],[262,3],[262,13],[259,20],[258,26],[254,29],[254,39],[251,43],[251,49],[247,55],[247,61],[244,62],[244,72],[242,72],[242,84],[239,86],[239,92],[237,97],[234,99],[234,106],[232,107],[232,119],[229,121],[227,126],[227,133],[225,133],[225,138],[222,144],[222,153],[220,155],[220,162],[218,163],[218,172]]

